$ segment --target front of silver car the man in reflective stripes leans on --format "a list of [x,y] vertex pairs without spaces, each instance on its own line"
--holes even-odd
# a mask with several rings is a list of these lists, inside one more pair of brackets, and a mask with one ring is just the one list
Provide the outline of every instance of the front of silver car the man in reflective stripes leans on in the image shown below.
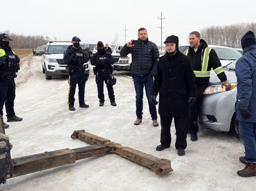
[[239,135],[238,120],[236,120],[236,61],[224,67],[227,79],[231,83],[231,90],[221,87],[216,73],[211,71],[210,84],[203,93],[199,124],[203,128],[216,131],[235,131]]

